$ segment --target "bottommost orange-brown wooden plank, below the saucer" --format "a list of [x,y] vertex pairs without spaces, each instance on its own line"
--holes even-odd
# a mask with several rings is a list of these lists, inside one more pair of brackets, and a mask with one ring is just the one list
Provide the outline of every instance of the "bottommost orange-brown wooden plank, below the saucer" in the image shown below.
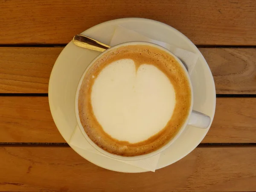
[[100,168],[71,148],[1,147],[0,156],[1,191],[256,190],[256,147],[196,148],[166,168],[137,174]]

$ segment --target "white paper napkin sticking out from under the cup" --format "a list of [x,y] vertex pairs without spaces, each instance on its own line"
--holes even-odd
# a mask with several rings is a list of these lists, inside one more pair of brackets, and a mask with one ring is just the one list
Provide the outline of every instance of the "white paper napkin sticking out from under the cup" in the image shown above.
[[[157,40],[148,38],[144,35],[141,35],[138,32],[132,31],[130,29],[126,29],[122,26],[116,26],[116,30],[113,34],[110,46],[112,47],[114,45],[125,43],[128,41],[146,41],[146,42],[151,42],[154,44],[158,44],[162,47],[165,47],[166,49],[171,51],[174,55],[176,55],[183,62],[183,64],[188,69],[189,74],[192,72],[193,68],[195,67],[195,63],[198,60],[198,55],[193,52],[189,52],[187,50],[180,49],[178,47],[175,47],[173,45],[167,44],[162,41],[157,41]],[[90,145],[90,143],[87,142],[87,140],[82,135],[78,126],[76,126],[76,129],[73,132],[72,137],[70,138],[70,145],[79,147],[85,151],[90,151],[92,153],[96,153],[96,154],[107,157],[106,155],[97,151],[95,148],[93,148],[93,146]],[[157,154],[153,157],[143,159],[143,160],[134,160],[134,161],[117,160],[117,161],[121,161],[123,163],[127,163],[132,166],[140,167],[147,171],[154,172],[157,168],[157,163],[158,163],[159,157],[160,157],[160,154]],[[108,158],[111,158],[111,157],[108,157]],[[114,159],[114,160],[116,160],[116,159]]]

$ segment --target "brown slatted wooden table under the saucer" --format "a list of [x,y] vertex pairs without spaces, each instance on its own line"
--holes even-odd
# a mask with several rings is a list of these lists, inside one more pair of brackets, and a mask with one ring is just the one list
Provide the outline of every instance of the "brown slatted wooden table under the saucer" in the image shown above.
[[[49,76],[63,47],[121,17],[178,29],[199,47],[215,80],[209,133],[155,173],[93,165],[65,143],[49,111]],[[0,191],[256,191],[255,96],[255,0],[0,0]]]

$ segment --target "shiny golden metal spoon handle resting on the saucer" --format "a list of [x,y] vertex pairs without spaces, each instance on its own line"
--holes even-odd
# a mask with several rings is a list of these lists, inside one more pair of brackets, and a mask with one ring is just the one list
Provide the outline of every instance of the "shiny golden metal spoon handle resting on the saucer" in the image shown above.
[[109,45],[103,44],[95,39],[89,38],[84,35],[76,35],[73,38],[73,42],[78,47],[83,47],[86,49],[92,49],[95,51],[103,52],[106,49],[110,48]]

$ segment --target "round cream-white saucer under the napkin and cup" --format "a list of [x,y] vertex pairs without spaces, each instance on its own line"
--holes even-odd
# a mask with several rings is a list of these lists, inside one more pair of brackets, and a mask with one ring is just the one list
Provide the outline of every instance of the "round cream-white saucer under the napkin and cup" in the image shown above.
[[[173,44],[179,48],[198,53],[199,58],[191,74],[194,91],[193,109],[205,113],[213,119],[216,95],[212,73],[201,52],[185,35],[164,23],[142,18],[124,18],[111,20],[82,32],[110,44],[115,26],[137,31],[149,38]],[[99,52],[77,47],[70,42],[61,52],[49,80],[49,105],[54,122],[62,137],[69,143],[76,127],[75,93],[79,79],[87,65]],[[181,136],[160,155],[157,169],[166,167],[185,157],[201,143],[208,129],[187,126]],[[146,172],[144,169],[128,165],[108,157],[103,157],[75,146],[71,147],[82,157],[105,169],[117,172]]]

